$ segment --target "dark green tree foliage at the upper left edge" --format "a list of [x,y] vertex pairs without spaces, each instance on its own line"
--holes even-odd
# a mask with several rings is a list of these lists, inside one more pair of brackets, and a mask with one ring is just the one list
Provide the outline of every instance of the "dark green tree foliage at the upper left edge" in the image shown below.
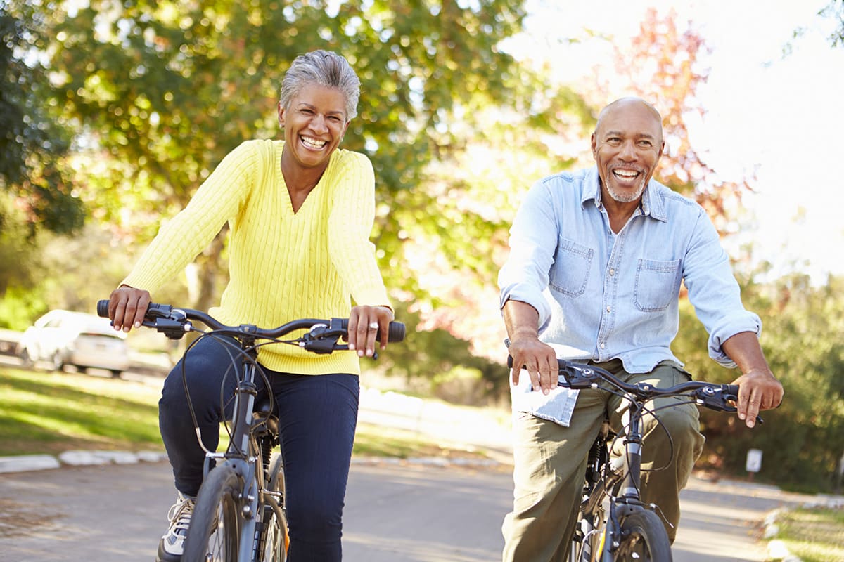
[[0,187],[24,207],[30,235],[36,225],[72,233],[84,222],[64,158],[68,131],[47,103],[51,87],[38,57],[46,48],[42,25],[28,3],[0,1]]

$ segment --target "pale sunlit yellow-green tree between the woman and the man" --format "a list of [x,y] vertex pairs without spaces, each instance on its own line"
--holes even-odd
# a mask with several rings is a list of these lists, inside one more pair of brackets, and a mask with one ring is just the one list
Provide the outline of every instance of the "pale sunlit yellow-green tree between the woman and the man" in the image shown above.
[[[420,313],[419,328],[446,330],[499,367],[506,334],[496,280],[512,219],[534,181],[574,163],[560,138],[582,138],[591,120],[582,97],[547,83],[547,75],[522,65],[513,95],[479,108],[477,126],[463,123],[466,141],[440,153],[426,169],[426,189],[398,194],[392,209],[416,294],[435,296],[409,303]],[[481,372],[492,392],[507,392],[501,368]]]

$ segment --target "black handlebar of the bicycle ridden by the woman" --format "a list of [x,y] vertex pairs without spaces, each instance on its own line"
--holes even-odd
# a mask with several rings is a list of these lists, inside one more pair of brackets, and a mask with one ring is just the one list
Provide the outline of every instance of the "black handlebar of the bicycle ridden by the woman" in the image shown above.
[[[103,318],[108,318],[108,304],[108,300],[98,301],[97,314]],[[194,310],[192,308],[173,308],[169,304],[159,304],[156,302],[149,303],[147,312],[143,316],[142,324],[149,328],[157,329],[171,340],[178,340],[182,335],[185,335],[187,332],[192,330],[190,320],[198,320],[214,331],[230,335],[245,335],[261,340],[273,340],[283,335],[287,335],[297,329],[309,330],[309,337],[306,337],[306,340],[309,341],[325,340],[330,338],[334,338],[336,340],[336,336],[344,337],[349,332],[349,318],[330,318],[327,320],[318,318],[301,318],[299,320],[288,322],[287,324],[282,324],[278,328],[263,329],[252,324],[229,326],[222,324],[210,314],[203,313],[200,310]],[[404,340],[404,331],[404,324],[401,322],[391,322],[387,331],[388,340]],[[378,330],[376,340],[381,341],[381,329]],[[306,347],[315,348],[312,351],[317,351],[320,346],[317,344],[311,344],[306,345]]]

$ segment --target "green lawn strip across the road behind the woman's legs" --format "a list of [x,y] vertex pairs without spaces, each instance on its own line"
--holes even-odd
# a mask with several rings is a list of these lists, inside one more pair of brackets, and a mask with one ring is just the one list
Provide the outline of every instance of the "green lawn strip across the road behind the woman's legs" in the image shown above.
[[[164,450],[158,429],[160,385],[0,366],[0,396],[0,456]],[[223,444],[225,430],[220,433]],[[413,431],[365,423],[358,425],[353,454],[484,458],[482,452],[455,450]]]

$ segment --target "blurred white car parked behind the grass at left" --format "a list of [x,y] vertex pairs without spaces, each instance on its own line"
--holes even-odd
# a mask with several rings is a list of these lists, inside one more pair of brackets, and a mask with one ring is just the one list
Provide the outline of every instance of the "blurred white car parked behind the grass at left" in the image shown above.
[[106,369],[114,377],[129,368],[126,334],[112,328],[108,318],[68,310],[51,310],[27,328],[18,356],[24,365],[46,361],[51,370],[72,365],[79,372]]

